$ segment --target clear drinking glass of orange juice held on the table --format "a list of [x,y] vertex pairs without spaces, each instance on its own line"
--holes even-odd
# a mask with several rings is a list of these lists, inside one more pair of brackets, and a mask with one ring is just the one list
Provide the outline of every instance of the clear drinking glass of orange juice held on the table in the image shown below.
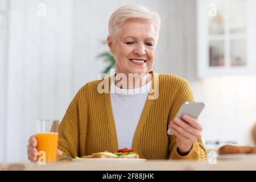
[[38,163],[51,163],[57,160],[59,121],[42,119],[36,121]]

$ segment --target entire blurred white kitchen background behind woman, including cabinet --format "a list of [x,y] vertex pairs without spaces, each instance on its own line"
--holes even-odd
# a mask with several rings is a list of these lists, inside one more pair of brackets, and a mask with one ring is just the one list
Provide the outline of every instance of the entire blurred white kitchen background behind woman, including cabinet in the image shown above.
[[207,148],[254,144],[256,1],[0,0],[0,162],[28,162],[35,120],[62,119],[69,102],[108,63],[108,20],[139,4],[159,13],[154,70],[191,84],[205,102]]

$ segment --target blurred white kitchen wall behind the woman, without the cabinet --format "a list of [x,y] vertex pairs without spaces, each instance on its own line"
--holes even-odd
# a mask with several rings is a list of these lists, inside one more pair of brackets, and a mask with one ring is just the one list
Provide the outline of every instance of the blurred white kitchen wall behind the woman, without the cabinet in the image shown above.
[[[196,100],[207,104],[200,120],[205,139],[250,142],[248,131],[255,120],[251,99],[255,86],[251,85],[255,85],[255,77],[196,80],[195,0],[9,2],[7,61],[2,58],[0,62],[1,67],[7,63],[6,79],[0,88],[6,90],[6,102],[1,101],[0,106],[5,109],[5,119],[2,115],[0,118],[0,132],[5,131],[4,162],[26,162],[27,139],[34,134],[34,121],[62,119],[77,90],[97,78],[104,63],[96,56],[107,49],[100,42],[108,35],[109,17],[117,7],[131,3],[147,6],[162,18],[154,69],[191,82]],[[45,17],[38,16],[40,2],[46,3]]]

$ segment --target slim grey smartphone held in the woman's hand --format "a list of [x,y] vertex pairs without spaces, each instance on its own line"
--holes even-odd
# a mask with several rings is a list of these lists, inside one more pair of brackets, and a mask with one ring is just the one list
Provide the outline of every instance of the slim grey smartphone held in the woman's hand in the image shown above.
[[[198,118],[201,111],[204,109],[205,104],[203,102],[184,102],[180,110],[178,111],[176,118],[181,118],[183,114],[191,115],[193,118]],[[173,135],[172,131],[168,129],[168,135]]]

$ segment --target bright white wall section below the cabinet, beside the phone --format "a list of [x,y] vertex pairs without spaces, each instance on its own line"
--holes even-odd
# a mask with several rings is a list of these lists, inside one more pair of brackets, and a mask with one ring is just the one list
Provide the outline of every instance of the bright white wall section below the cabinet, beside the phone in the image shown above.
[[208,141],[254,144],[256,76],[209,77],[191,82],[196,101],[205,102],[200,115]]

